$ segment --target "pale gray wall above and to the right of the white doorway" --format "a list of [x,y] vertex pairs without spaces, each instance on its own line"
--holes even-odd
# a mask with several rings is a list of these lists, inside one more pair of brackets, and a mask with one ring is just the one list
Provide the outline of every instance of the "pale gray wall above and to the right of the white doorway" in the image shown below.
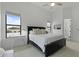
[[64,9],[64,19],[72,19],[71,40],[79,41],[79,4]]

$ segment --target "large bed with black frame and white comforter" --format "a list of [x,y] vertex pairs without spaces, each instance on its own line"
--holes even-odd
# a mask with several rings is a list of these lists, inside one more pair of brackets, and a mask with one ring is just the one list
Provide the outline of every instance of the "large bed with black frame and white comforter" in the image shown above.
[[66,39],[62,34],[30,34],[30,31],[33,29],[45,29],[45,27],[28,26],[27,43],[40,49],[46,57],[50,56],[66,45]]

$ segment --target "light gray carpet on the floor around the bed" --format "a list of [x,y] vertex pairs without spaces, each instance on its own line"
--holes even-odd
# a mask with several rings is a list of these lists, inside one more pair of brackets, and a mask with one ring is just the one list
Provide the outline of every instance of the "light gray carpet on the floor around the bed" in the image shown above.
[[[17,47],[14,50],[15,57],[44,57],[44,54],[32,45]],[[49,57],[79,57],[79,52],[69,47],[64,47]]]

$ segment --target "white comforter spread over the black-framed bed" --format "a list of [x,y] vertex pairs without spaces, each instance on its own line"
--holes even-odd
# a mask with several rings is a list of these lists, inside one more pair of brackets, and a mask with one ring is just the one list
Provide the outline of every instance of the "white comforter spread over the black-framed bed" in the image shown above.
[[62,34],[42,34],[42,35],[29,35],[29,39],[36,43],[43,52],[45,52],[45,45],[54,42],[56,40],[62,39],[64,36]]

